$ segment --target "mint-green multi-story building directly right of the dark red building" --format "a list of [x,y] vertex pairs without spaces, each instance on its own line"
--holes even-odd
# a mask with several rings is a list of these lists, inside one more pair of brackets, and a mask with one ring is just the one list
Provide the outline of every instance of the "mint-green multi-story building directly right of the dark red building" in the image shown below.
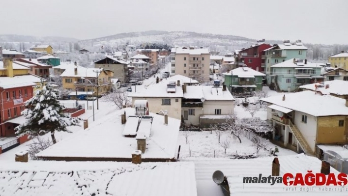
[[[272,65],[293,58],[305,59],[306,54],[307,48],[303,46],[301,40],[297,40],[295,43],[290,43],[289,40],[286,40],[283,44],[277,44],[272,48],[264,50],[261,58],[265,58],[264,70],[267,84],[271,84]],[[263,67],[261,66],[261,68]]]

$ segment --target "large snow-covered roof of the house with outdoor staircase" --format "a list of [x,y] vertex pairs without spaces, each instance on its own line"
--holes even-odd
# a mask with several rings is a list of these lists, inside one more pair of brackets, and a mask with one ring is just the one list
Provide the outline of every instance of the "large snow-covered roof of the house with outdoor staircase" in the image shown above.
[[302,91],[283,95],[266,97],[261,101],[275,104],[294,111],[308,113],[313,116],[348,115],[346,100],[331,95],[315,94],[313,91]]

